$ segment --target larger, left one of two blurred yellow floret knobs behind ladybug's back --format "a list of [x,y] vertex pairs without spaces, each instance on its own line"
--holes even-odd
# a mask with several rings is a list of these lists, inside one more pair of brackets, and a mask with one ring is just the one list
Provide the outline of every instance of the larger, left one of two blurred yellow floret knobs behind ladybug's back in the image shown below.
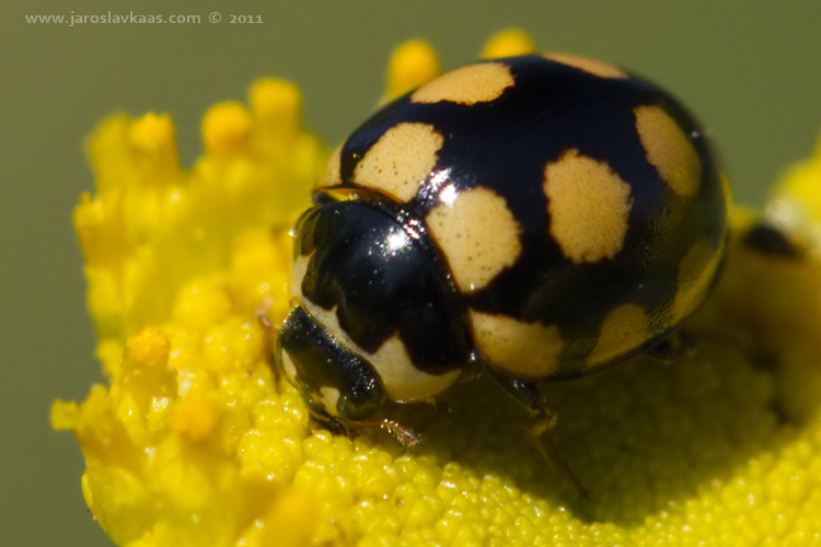
[[439,55],[424,39],[410,39],[401,44],[391,55],[388,65],[388,91],[391,101],[410,90],[426,84],[441,73]]

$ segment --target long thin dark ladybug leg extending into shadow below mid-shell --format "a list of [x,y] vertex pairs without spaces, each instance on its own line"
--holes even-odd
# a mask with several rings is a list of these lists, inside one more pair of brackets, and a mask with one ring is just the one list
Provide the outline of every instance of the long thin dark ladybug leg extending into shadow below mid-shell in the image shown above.
[[563,477],[569,482],[580,498],[587,499],[589,497],[588,489],[585,488],[585,485],[567,464],[567,461],[562,457],[559,450],[551,440],[550,435],[544,434],[545,431],[556,424],[557,415],[554,409],[547,406],[547,401],[539,389],[539,386],[534,383],[522,382],[521,380],[502,376],[493,372],[492,374],[508,395],[530,410],[531,424],[529,433],[539,451],[553,467],[556,475]]

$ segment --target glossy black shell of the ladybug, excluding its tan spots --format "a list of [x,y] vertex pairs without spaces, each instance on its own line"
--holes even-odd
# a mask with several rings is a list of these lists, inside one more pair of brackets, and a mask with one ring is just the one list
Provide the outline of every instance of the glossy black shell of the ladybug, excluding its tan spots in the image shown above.
[[[338,335],[345,352],[367,362],[397,335],[413,366],[433,375],[476,357],[488,361],[471,313],[557,328],[558,366],[523,372],[525,379],[573,376],[656,344],[683,318],[675,309],[690,296],[685,292],[704,298],[726,240],[726,183],[704,131],[679,102],[636,77],[603,78],[535,55],[486,62],[507,67],[514,84],[473,104],[418,102],[408,94],[344,142],[315,191],[315,207],[296,230],[294,261],[304,263],[304,277],[296,279],[294,296],[307,309],[335,314],[331,335]],[[649,160],[637,130],[636,108],[643,106],[669,116],[695,151],[699,176],[692,194],[677,193]],[[356,182],[369,151],[401,124],[429,126],[442,139],[433,167],[406,200]],[[551,233],[545,165],[568,151],[605,164],[629,185],[627,228],[612,257],[573,260]],[[426,219],[446,188],[452,197],[479,187],[504,198],[520,229],[521,251],[486,286],[464,291]],[[391,243],[396,233],[407,238],[400,248]],[[695,247],[702,254],[707,248],[708,259],[704,279],[693,281],[682,269]],[[617,359],[591,364],[603,324],[625,303],[646,314],[646,336]],[[686,314],[693,307],[685,306]],[[502,369],[517,375],[514,368]]]

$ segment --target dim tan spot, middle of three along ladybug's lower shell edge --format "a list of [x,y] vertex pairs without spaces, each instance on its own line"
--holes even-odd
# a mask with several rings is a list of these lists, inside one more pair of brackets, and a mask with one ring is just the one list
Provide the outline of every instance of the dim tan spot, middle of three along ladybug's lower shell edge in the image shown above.
[[622,304],[604,317],[599,340],[587,357],[587,366],[605,364],[641,346],[650,337],[650,318],[634,303]]

